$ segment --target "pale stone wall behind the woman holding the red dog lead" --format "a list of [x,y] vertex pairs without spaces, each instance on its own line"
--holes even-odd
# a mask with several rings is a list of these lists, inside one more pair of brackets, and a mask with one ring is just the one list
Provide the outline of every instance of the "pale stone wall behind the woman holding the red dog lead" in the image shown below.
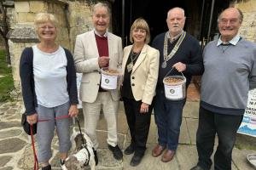
[[47,12],[55,14],[58,20],[56,42],[73,52],[75,37],[90,30],[91,4],[87,1],[44,0],[15,1],[15,8],[9,11],[11,29],[9,48],[15,88],[20,91],[19,63],[20,54],[26,47],[38,42],[33,21],[36,14]]

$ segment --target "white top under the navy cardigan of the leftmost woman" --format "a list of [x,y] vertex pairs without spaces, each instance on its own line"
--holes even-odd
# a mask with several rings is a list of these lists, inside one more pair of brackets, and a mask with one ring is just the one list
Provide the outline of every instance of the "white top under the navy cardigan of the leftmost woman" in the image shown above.
[[61,46],[52,54],[37,45],[33,49],[33,73],[38,105],[55,107],[67,103],[67,58]]

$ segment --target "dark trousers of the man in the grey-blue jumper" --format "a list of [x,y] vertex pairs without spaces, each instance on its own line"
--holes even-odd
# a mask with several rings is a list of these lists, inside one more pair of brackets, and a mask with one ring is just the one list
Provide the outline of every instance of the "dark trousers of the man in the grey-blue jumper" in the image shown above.
[[232,150],[236,141],[236,131],[241,124],[242,115],[224,115],[207,111],[200,107],[196,133],[198,165],[204,169],[212,166],[212,152],[216,133],[218,147],[214,155],[215,170],[231,170]]

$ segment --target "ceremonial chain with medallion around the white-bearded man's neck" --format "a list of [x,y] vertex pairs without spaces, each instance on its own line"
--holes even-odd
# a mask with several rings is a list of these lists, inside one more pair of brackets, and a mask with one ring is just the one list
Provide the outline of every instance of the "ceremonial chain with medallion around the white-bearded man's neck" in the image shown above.
[[177,49],[179,48],[180,44],[183,42],[184,37],[186,36],[186,31],[183,31],[182,35],[178,38],[177,43],[175,44],[174,48],[172,49],[171,53],[168,53],[168,33],[166,32],[165,42],[164,42],[164,62],[162,63],[161,67],[164,69],[167,66],[167,61],[172,59],[173,55],[176,54]]

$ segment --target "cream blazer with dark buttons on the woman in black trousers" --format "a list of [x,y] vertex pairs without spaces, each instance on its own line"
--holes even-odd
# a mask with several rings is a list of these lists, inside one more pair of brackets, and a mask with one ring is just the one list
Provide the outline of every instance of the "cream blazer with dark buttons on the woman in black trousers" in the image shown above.
[[[124,48],[123,75],[132,45]],[[131,90],[134,98],[151,105],[158,79],[159,51],[145,44],[131,71]]]

